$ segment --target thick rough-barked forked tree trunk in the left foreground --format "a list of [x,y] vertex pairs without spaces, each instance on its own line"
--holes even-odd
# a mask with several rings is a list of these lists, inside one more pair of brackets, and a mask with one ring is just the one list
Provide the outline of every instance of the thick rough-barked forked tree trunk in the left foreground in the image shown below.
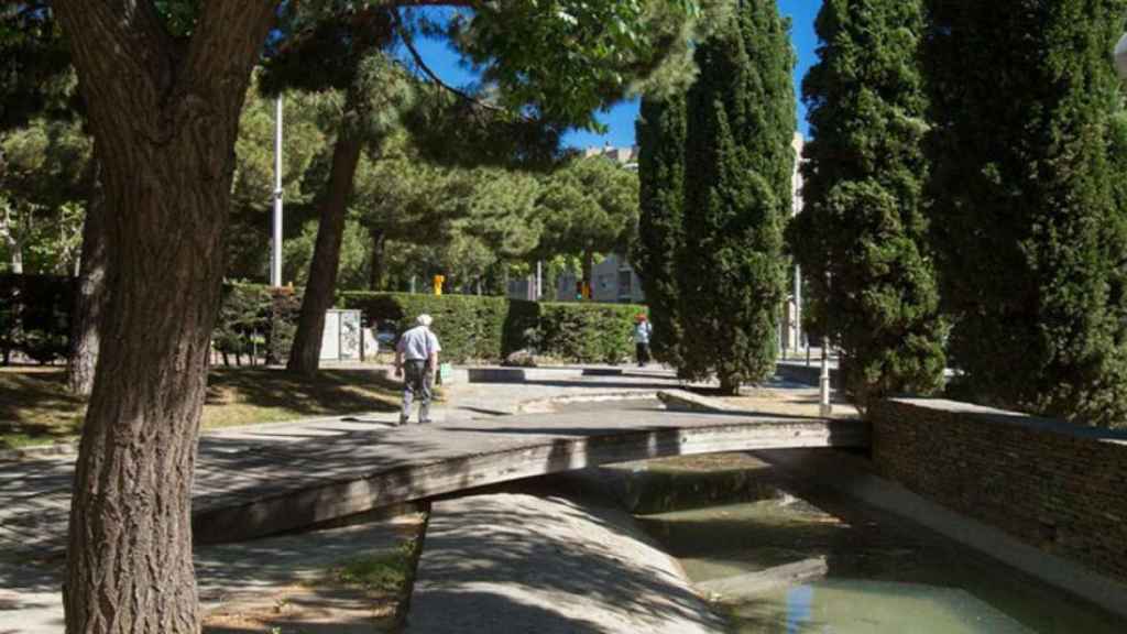
[[239,112],[275,1],[56,0],[103,161],[109,301],[79,449],[71,634],[197,633],[190,507]]

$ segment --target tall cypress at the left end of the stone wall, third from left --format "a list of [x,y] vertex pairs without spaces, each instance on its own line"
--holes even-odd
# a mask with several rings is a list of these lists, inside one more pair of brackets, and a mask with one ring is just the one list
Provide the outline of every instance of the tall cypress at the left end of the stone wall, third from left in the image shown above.
[[932,393],[943,378],[939,293],[926,244],[919,0],[825,0],[818,63],[802,82],[813,140],[802,213],[788,229],[815,320],[843,352],[854,403]]

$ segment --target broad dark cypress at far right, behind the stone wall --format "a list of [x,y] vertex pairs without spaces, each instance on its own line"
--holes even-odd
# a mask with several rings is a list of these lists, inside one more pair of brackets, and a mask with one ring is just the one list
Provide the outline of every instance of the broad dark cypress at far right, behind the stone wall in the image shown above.
[[983,402],[1127,421],[1127,230],[1110,134],[1124,0],[929,0],[933,235]]

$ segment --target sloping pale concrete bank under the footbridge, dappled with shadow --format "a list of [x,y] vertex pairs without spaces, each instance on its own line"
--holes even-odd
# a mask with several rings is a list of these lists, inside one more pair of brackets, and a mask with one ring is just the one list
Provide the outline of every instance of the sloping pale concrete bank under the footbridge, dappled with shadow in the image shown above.
[[724,631],[625,512],[513,494],[432,508],[407,617],[407,634]]

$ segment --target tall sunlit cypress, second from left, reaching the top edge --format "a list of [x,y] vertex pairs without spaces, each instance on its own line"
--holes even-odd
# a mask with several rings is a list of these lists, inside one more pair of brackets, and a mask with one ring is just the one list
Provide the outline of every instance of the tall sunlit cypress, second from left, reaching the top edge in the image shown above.
[[740,2],[696,49],[685,143],[680,373],[721,390],[774,372],[795,156],[795,54],[774,0]]

